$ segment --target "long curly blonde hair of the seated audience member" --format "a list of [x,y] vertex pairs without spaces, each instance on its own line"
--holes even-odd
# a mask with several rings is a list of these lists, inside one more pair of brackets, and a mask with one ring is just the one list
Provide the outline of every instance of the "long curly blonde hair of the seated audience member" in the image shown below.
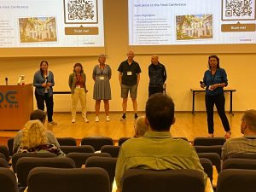
[[27,121],[22,134],[21,146],[23,148],[36,148],[47,144],[45,128],[40,120]]

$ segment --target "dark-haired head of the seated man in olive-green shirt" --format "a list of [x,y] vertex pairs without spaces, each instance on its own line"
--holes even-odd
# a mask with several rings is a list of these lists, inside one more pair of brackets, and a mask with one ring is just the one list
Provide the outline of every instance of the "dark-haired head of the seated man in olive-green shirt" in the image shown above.
[[162,93],[150,96],[146,103],[146,122],[152,131],[170,131],[175,123],[172,98]]

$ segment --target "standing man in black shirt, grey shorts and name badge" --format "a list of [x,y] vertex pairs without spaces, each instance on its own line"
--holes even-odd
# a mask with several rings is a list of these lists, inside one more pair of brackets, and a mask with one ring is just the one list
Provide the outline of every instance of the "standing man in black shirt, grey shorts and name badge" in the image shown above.
[[121,97],[123,98],[123,115],[121,120],[126,119],[126,108],[128,93],[130,91],[131,101],[133,104],[134,118],[137,119],[137,86],[140,81],[141,67],[134,61],[134,52],[129,51],[127,54],[128,59],[121,62],[119,65],[119,83],[121,86]]

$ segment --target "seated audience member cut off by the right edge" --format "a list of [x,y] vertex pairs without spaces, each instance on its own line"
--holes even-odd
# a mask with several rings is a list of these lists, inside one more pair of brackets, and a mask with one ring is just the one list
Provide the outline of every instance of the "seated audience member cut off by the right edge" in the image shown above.
[[224,143],[222,159],[232,154],[256,154],[256,110],[247,110],[241,118],[243,137],[232,138]]

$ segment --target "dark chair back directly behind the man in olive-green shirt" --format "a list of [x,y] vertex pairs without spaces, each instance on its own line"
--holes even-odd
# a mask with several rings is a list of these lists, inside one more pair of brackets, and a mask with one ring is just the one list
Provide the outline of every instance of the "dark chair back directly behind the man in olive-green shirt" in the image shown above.
[[122,192],[203,192],[204,176],[197,170],[130,169],[123,176]]

